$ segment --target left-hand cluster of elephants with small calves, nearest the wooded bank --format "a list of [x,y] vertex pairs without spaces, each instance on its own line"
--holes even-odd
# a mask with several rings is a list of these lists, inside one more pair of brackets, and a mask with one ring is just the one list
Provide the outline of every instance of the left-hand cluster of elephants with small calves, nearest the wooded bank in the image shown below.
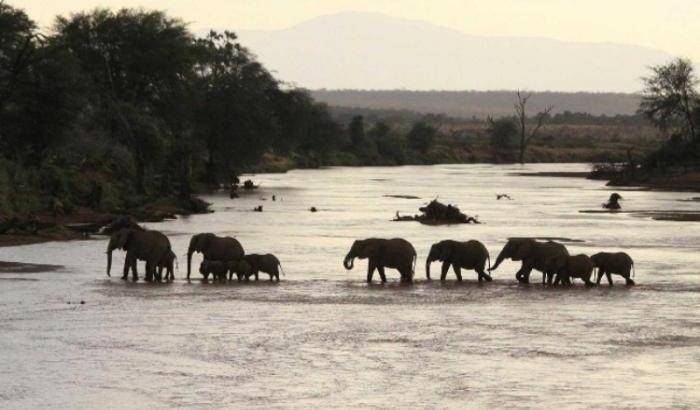
[[[173,266],[176,256],[170,246],[170,240],[161,232],[132,227],[113,233],[107,245],[107,276],[110,276],[112,252],[115,249],[126,251],[122,275],[124,280],[128,279],[129,270],[133,281],[138,280],[136,262],[139,260],[146,262],[146,281],[172,281],[175,278]],[[219,237],[213,233],[196,234],[190,239],[187,248],[188,280],[192,272],[192,255],[195,252],[204,257],[199,266],[199,273],[205,280],[209,279],[209,275],[214,281],[230,280],[234,274],[239,281],[249,280],[251,276],[258,280],[260,272],[270,275],[270,280],[280,280],[279,272],[282,267],[275,255],[246,254],[241,243],[235,238]]]

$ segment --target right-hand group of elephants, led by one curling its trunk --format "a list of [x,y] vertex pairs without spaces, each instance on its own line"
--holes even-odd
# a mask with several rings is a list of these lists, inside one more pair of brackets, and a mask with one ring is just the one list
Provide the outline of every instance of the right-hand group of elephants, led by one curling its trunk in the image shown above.
[[[405,239],[369,238],[357,240],[343,260],[345,269],[353,268],[355,258],[368,259],[367,282],[372,281],[374,271],[379,272],[382,282],[386,282],[384,268],[393,268],[401,274],[401,280],[410,282],[416,264],[416,250]],[[450,267],[454,270],[457,280],[462,280],[462,269],[474,270],[479,282],[492,280],[486,272],[494,271],[505,260],[520,261],[521,266],[515,274],[520,283],[529,283],[532,270],[542,272],[542,283],[571,284],[573,279],[581,279],[586,285],[593,285],[592,275],[598,269],[596,284],[600,284],[603,275],[612,286],[612,274],[625,278],[627,285],[634,285],[631,274],[634,273],[634,262],[624,252],[599,252],[593,256],[570,255],[566,247],[560,243],[547,241],[538,242],[531,238],[509,239],[496,258],[496,264],[491,265],[489,251],[483,243],[477,240],[458,242],[445,240],[433,244],[425,261],[425,276],[430,279],[430,265],[442,262],[440,280],[445,280]],[[487,265],[488,262],[488,265]],[[487,269],[488,266],[488,269]]]

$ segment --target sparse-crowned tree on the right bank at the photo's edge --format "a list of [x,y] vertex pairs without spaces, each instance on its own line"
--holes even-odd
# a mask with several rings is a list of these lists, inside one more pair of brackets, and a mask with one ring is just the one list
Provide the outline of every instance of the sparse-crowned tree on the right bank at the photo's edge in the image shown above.
[[697,142],[697,122],[693,111],[700,106],[697,76],[690,60],[678,58],[651,68],[643,78],[644,91],[639,110],[659,129],[680,128],[690,141]]

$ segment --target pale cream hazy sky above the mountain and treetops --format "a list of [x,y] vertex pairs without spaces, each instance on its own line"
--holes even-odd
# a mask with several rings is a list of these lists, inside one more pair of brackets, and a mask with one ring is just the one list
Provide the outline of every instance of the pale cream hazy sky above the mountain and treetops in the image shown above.
[[426,20],[468,34],[658,48],[700,62],[700,0],[6,0],[42,25],[97,6],[156,8],[194,30],[285,28],[341,11]]

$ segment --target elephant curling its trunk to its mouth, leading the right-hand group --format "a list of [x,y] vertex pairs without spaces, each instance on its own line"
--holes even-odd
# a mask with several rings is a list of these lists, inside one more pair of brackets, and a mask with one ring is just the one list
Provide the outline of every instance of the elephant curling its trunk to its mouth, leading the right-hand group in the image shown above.
[[401,238],[380,239],[369,238],[353,242],[350,251],[343,259],[343,266],[351,270],[355,258],[369,258],[367,264],[367,283],[372,282],[374,270],[379,271],[382,282],[386,282],[384,268],[392,268],[399,271],[401,280],[410,282],[413,280],[413,272],[416,267],[416,250],[410,242]]

